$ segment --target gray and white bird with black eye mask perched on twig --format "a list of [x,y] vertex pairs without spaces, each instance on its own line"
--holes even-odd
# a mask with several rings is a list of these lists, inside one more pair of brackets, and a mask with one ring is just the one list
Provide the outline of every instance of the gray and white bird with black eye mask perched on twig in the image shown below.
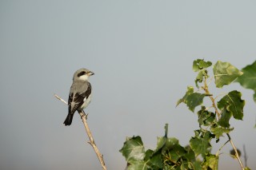
[[74,73],[73,84],[70,87],[69,113],[64,121],[64,125],[71,125],[75,111],[81,112],[90,104],[91,85],[89,77],[94,75],[88,69],[78,69]]

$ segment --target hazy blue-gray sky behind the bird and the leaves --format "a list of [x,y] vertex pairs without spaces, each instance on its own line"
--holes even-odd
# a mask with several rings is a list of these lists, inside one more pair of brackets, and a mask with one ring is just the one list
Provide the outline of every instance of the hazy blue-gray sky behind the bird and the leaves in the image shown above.
[[[124,169],[118,150],[126,136],[154,149],[169,136],[188,144],[197,115],[176,101],[194,85],[192,62],[230,61],[242,69],[256,60],[256,2],[251,1],[0,1],[0,168],[101,169],[78,114],[62,125],[74,71],[94,71],[88,124],[108,169]],[[214,83],[210,84],[210,90]],[[256,105],[246,99],[244,121],[231,121],[234,144],[246,144],[256,169]],[[207,99],[206,99],[207,100]],[[227,140],[214,146],[214,153]],[[240,169],[226,144],[219,169]],[[244,161],[242,159],[242,161]]]

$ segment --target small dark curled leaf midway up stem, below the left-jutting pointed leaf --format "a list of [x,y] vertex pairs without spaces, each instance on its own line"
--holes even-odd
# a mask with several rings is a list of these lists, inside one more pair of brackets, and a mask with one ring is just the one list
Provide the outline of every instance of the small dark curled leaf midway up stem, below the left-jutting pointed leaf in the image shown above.
[[209,126],[215,120],[215,114],[206,110],[205,106],[202,106],[201,109],[198,111],[198,123],[199,126]]

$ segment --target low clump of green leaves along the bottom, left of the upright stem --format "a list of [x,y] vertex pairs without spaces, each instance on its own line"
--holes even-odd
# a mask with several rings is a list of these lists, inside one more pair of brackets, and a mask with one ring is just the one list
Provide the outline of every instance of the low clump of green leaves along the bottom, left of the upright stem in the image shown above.
[[[205,136],[206,138],[209,137],[208,133]],[[203,141],[203,143],[205,142]],[[136,136],[128,138],[122,149],[120,149],[120,152],[122,152],[127,163],[129,163],[127,166],[127,169],[129,170],[202,169],[202,161],[196,159],[194,150],[190,148],[190,146],[182,147],[182,145],[178,143],[178,139],[174,137],[167,137],[166,134],[165,136],[158,137],[157,147],[154,151],[148,149],[144,152],[142,140],[139,136]],[[134,156],[135,152],[138,152],[139,156]]]

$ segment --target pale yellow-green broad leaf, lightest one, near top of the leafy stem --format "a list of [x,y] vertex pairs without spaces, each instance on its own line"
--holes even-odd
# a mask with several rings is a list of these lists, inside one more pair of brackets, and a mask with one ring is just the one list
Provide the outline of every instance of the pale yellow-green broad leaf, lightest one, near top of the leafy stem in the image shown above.
[[218,88],[222,88],[223,85],[230,85],[232,81],[241,75],[242,72],[230,65],[229,62],[217,61],[214,65],[215,85]]

